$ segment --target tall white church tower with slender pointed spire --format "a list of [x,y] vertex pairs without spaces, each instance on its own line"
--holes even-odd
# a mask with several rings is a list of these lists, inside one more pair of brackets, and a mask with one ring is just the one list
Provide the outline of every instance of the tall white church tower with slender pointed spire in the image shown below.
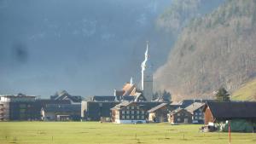
[[153,67],[149,59],[148,42],[145,52],[145,60],[142,63],[142,90],[147,101],[153,98]]

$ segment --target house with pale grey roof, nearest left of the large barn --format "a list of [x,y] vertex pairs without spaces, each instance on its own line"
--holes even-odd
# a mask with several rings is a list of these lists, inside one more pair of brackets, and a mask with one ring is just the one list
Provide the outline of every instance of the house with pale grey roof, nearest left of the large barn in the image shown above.
[[193,124],[204,124],[204,112],[203,108],[205,103],[194,102],[189,107],[185,109],[192,114],[192,123]]

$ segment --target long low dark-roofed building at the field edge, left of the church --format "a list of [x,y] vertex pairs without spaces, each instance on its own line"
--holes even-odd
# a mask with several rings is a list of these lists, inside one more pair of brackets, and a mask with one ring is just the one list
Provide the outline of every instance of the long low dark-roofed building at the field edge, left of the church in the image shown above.
[[41,115],[44,121],[80,120],[80,105],[49,104],[42,107]]

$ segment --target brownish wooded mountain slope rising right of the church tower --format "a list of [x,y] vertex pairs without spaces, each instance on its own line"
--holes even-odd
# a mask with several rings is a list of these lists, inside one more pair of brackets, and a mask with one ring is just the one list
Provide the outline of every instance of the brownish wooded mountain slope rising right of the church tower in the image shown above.
[[191,20],[154,74],[156,85],[176,99],[208,97],[221,86],[239,88],[256,76],[255,24],[255,0],[229,0]]

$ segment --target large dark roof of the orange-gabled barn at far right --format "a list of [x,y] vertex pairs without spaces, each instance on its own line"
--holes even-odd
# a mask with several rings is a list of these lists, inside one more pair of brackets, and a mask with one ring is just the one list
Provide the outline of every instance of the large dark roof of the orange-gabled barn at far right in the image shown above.
[[210,108],[212,116],[217,119],[256,118],[256,102],[208,101],[207,106]]

